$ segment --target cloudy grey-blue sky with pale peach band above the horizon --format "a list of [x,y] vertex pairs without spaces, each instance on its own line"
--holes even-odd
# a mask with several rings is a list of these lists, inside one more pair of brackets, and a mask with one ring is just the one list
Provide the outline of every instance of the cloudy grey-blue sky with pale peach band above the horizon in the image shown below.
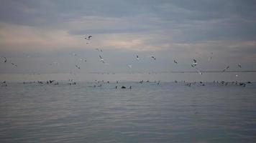
[[1,74],[256,70],[254,0],[0,3]]

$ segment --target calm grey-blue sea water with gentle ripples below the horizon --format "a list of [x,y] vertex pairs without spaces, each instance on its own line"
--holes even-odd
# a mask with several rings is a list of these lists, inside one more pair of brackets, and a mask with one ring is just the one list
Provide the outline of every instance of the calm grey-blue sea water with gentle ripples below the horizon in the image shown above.
[[94,84],[0,87],[0,142],[256,142],[256,83]]

